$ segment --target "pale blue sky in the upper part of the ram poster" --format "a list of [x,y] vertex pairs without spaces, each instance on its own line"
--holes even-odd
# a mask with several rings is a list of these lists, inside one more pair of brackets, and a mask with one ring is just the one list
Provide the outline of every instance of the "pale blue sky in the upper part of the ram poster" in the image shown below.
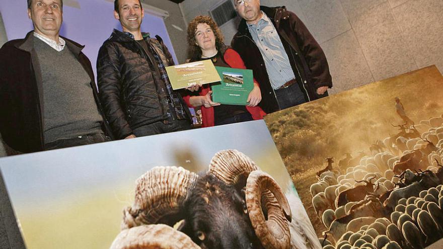
[[193,171],[205,170],[223,149],[237,149],[257,163],[268,153],[272,168],[284,169],[262,120],[4,157],[0,168],[18,207],[119,183],[133,186],[156,166],[197,164]]

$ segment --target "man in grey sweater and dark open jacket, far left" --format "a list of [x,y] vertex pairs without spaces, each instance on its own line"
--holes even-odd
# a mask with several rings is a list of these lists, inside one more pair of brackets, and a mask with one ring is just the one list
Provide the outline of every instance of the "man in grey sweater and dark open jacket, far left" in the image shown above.
[[62,6],[28,0],[34,31],[0,50],[0,131],[11,151],[110,140],[84,46],[59,36]]

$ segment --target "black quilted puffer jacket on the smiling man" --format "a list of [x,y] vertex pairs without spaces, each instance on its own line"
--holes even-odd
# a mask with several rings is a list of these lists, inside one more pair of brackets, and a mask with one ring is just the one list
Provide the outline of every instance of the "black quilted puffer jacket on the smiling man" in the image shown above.
[[[165,66],[174,64],[163,42],[145,39]],[[97,81],[100,100],[116,138],[125,138],[132,134],[132,129],[167,118],[168,106],[161,101],[166,94],[159,93],[159,80],[156,62],[151,61],[141,45],[114,30],[99,50]]]

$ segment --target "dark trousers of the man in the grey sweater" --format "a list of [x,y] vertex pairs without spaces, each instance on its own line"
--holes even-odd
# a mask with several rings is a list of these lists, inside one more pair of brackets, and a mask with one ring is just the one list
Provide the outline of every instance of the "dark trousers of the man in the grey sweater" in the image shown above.
[[50,143],[46,143],[45,150],[61,149],[61,148],[67,148],[67,147],[73,147],[73,146],[79,146],[79,145],[87,145],[87,144],[93,144],[93,143],[101,143],[101,142],[107,142],[107,141],[111,141],[111,139],[106,137],[105,134],[94,133],[94,134],[88,134],[88,135],[74,137],[74,138],[59,139],[59,140],[55,140]]

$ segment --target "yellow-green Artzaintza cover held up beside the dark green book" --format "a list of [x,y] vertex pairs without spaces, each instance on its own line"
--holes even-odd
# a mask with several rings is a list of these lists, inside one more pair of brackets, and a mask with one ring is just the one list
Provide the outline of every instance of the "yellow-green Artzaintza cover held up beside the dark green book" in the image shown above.
[[167,66],[166,72],[174,90],[221,80],[211,60]]

